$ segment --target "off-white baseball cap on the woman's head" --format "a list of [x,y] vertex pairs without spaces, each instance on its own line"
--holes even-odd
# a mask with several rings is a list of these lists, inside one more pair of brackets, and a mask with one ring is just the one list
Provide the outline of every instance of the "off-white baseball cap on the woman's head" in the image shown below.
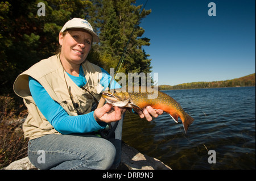
[[93,31],[92,26],[90,26],[90,23],[86,21],[85,19],[81,18],[73,18],[69,20],[67,23],[64,24],[60,32],[64,32],[65,30],[74,29],[74,28],[82,28],[87,30],[93,37],[93,42],[100,42],[100,39],[96,32]]

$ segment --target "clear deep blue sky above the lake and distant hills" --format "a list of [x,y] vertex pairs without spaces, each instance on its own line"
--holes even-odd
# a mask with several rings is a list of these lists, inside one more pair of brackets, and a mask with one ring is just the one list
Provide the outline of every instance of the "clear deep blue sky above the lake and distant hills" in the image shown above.
[[[137,5],[146,0],[137,0]],[[216,16],[209,16],[209,2]],[[140,24],[159,85],[224,81],[255,73],[255,0],[148,0]]]

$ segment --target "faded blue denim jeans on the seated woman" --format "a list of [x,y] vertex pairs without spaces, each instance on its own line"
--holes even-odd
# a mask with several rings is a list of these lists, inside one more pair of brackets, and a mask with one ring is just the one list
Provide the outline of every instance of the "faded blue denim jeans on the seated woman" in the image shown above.
[[109,140],[93,134],[47,134],[28,142],[28,158],[42,170],[115,169],[121,162],[123,116]]

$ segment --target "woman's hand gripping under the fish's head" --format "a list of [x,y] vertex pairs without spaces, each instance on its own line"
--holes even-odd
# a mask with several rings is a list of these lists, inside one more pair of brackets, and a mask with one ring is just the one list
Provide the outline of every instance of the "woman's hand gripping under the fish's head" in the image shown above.
[[94,113],[94,119],[96,121],[103,121],[105,123],[111,123],[115,121],[119,121],[122,118],[122,114],[126,111],[125,108],[119,108],[117,106],[113,106],[111,104],[105,104],[101,108],[97,108]]

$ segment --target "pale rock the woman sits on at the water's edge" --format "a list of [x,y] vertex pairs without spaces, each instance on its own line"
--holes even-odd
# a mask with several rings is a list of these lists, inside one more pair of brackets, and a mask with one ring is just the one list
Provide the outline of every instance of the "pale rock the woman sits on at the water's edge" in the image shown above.
[[[118,169],[129,170],[169,170],[169,166],[164,165],[159,159],[149,157],[133,147],[122,143],[122,158],[121,165]],[[36,167],[32,165],[28,157],[19,159],[12,162],[4,170],[36,170]]]

